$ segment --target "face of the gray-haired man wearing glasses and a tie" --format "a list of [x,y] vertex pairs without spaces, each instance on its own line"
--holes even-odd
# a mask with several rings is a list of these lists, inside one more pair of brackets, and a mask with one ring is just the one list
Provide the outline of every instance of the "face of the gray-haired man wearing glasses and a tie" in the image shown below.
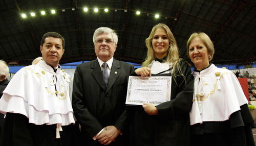
[[[98,41],[102,40],[102,41]],[[109,40],[109,41],[105,41]],[[111,40],[111,41],[110,41]],[[101,33],[96,37],[96,42],[94,44],[94,50],[97,57],[106,62],[110,60],[116,51],[117,44],[113,41],[111,33]]]

